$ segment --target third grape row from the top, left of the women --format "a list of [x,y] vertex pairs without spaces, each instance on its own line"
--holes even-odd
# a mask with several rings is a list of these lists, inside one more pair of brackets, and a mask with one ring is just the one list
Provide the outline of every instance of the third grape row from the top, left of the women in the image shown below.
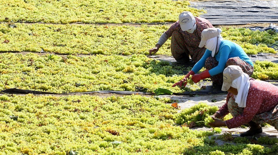
[[[150,59],[145,55],[63,57],[3,53],[0,61],[2,90],[17,87],[53,93],[138,89],[151,93],[157,88],[175,93],[186,91],[172,87],[184,76],[183,66]],[[192,87],[187,91],[192,90],[195,89]]]

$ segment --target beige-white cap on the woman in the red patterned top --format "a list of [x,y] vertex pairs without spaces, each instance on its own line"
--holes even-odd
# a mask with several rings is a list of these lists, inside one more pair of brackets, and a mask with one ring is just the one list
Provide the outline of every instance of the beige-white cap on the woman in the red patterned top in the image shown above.
[[223,85],[222,91],[227,91],[230,89],[232,82],[243,75],[243,71],[240,66],[230,65],[223,71]]

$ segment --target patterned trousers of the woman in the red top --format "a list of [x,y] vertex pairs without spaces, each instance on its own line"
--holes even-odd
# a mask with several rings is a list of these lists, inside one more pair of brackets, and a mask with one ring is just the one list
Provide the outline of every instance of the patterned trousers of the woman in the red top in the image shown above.
[[[243,113],[244,108],[239,107],[237,103],[235,103],[234,96],[232,96],[228,101],[228,110],[233,117],[236,117]],[[278,131],[278,104],[269,112],[255,115],[252,121],[257,124],[267,123],[271,126],[274,126]]]

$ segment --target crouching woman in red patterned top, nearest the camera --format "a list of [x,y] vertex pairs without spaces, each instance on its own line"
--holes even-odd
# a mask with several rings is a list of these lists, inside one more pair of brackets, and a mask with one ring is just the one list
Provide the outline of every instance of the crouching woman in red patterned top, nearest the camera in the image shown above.
[[[229,129],[248,124],[250,129],[240,136],[253,136],[263,132],[260,124],[268,123],[278,131],[278,87],[255,80],[243,73],[239,66],[228,66],[223,72],[222,91],[228,91],[226,103],[213,114],[212,127]],[[231,113],[233,118],[222,121]]]

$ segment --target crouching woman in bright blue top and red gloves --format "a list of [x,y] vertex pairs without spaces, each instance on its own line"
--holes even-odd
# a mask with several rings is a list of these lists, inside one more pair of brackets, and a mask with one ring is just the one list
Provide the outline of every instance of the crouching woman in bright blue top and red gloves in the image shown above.
[[[236,43],[223,40],[221,29],[208,28],[202,31],[202,39],[199,47],[206,47],[206,52],[202,58],[193,66],[192,70],[185,77],[173,85],[184,86],[190,75],[192,80],[197,83],[203,79],[209,78],[213,85],[222,85],[223,71],[227,66],[237,65],[249,76],[253,74],[253,62],[244,52],[244,50]],[[203,66],[206,70],[200,74],[196,74]]]

